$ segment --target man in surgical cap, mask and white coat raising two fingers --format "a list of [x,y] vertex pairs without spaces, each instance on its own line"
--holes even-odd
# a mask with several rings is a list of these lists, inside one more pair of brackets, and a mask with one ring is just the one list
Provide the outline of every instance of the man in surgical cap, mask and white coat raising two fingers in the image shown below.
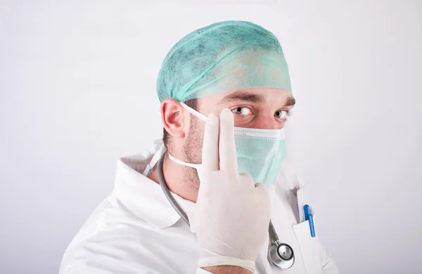
[[284,160],[295,99],[274,34],[235,21],[196,30],[167,54],[157,91],[163,143],[117,162],[60,273],[338,273]]

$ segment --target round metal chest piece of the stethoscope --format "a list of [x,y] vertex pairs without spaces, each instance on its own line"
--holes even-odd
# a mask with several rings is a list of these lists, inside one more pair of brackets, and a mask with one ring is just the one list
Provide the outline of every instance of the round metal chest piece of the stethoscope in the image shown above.
[[288,244],[281,244],[278,240],[268,247],[268,261],[281,270],[288,269],[295,262],[295,254]]

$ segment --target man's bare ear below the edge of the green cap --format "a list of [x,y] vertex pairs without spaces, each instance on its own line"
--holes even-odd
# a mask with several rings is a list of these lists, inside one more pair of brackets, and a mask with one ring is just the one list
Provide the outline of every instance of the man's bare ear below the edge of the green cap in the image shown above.
[[165,130],[174,138],[184,138],[184,107],[177,100],[166,98],[161,102],[160,113]]

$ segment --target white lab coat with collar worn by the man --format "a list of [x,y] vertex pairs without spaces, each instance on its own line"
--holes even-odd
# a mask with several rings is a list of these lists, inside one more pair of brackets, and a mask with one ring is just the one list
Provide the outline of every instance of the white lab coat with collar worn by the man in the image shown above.
[[[113,192],[98,205],[66,249],[60,274],[209,273],[197,267],[199,246],[195,234],[174,211],[160,185],[142,174],[161,146],[156,141],[151,150],[117,161]],[[299,223],[295,188],[298,200],[312,207],[307,186],[283,161],[276,183],[269,189],[271,220],[281,242],[293,248],[295,263],[288,270],[271,266],[267,261],[267,239],[255,273],[339,273],[319,243],[317,221],[316,237],[311,237],[307,222]],[[173,196],[189,215],[195,204]],[[312,211],[315,213],[313,207]]]

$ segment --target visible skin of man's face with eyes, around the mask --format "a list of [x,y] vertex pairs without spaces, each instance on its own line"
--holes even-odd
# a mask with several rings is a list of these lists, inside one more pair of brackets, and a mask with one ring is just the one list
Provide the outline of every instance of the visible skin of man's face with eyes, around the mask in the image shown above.
[[[196,99],[196,110],[206,117],[219,117],[225,108],[234,114],[234,125],[254,129],[282,129],[290,115],[295,99],[288,91],[274,88],[253,88],[229,91],[215,96]],[[188,162],[200,164],[205,122],[188,115],[189,130],[184,142]],[[191,180],[199,182],[196,170],[190,169]]]

